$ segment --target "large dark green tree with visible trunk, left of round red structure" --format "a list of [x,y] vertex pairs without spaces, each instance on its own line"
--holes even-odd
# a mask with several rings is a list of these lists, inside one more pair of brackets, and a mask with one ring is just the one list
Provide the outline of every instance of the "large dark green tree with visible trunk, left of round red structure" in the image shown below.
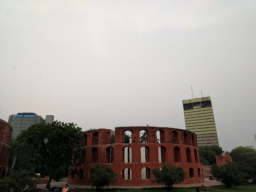
[[[34,159],[34,162],[49,168],[50,178],[46,186],[49,189],[52,178],[60,172],[60,168],[71,164],[74,172],[77,173],[77,166],[81,166],[83,162],[81,155],[83,136],[81,128],[76,127],[76,124],[64,124],[56,121],[52,124],[32,125],[22,131],[17,137],[17,141],[20,145],[20,152],[28,150],[27,154],[30,156],[38,154],[38,159]],[[72,158],[73,156],[74,158]],[[24,156],[20,157],[24,158]],[[17,161],[20,159],[17,158]]]

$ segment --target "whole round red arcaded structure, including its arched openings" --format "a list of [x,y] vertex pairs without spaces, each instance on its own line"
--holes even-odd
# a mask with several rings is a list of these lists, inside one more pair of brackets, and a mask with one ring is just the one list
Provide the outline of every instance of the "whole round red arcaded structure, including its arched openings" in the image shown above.
[[[125,136],[127,131],[131,138]],[[113,132],[110,129],[84,132],[85,161],[79,168],[80,175],[68,176],[68,184],[90,186],[89,173],[95,163],[108,164],[118,173],[118,183],[114,186],[148,185],[150,170],[161,168],[163,162],[176,164],[187,173],[183,184],[204,182],[193,132],[168,127],[116,127],[115,143],[111,144]],[[143,133],[146,137],[141,141]]]

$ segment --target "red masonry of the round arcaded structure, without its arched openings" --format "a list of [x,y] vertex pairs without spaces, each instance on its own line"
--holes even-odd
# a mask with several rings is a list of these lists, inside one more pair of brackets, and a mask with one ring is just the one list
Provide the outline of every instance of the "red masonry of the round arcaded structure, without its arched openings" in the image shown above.
[[[147,131],[147,143],[140,143],[140,131]],[[132,132],[132,143],[124,143],[124,131]],[[164,143],[157,143],[156,131],[163,131],[161,134],[161,140]],[[179,144],[174,144],[172,141],[172,131],[177,131],[179,134]],[[93,133],[99,132],[99,145],[92,145]],[[184,145],[183,134],[186,132],[188,134],[189,145]],[[87,134],[87,146],[86,149],[86,158],[85,163],[79,169],[83,170],[83,179],[79,179],[78,175],[74,176],[74,179],[71,179],[71,175],[68,177],[68,184],[81,184],[81,185],[90,185],[88,182],[90,169],[95,166],[95,163],[92,163],[92,148],[97,147],[98,149],[98,163],[108,164],[111,166],[114,172],[118,173],[118,183],[114,184],[115,186],[143,186],[151,183],[151,179],[143,180],[141,179],[141,169],[150,168],[161,168],[162,163],[159,163],[158,159],[158,148],[165,147],[166,162],[176,164],[187,173],[184,184],[193,184],[204,182],[202,164],[200,163],[200,156],[198,153],[198,147],[196,143],[196,135],[193,132],[182,130],[182,129],[173,129],[168,127],[116,127],[115,129],[115,144],[110,144],[111,130],[109,129],[97,129],[93,131],[84,132]],[[192,137],[193,135],[193,137]],[[193,141],[192,141],[193,139]],[[193,146],[193,144],[195,146]],[[124,147],[132,148],[132,163],[124,163]],[[148,154],[148,163],[141,163],[141,154],[140,148],[147,146],[149,148]],[[108,156],[106,154],[106,148],[113,147],[113,163],[108,163]],[[180,148],[180,157],[181,162],[175,163],[175,158],[173,154],[173,148]],[[191,152],[191,163],[187,162],[186,149],[189,148]],[[198,163],[195,159],[195,150]],[[124,168],[130,168],[132,171],[132,179],[124,180],[122,179],[122,170]],[[189,178],[189,168],[193,168],[195,177]],[[198,169],[200,170],[200,175],[198,175]],[[157,185],[157,184],[154,184]]]

